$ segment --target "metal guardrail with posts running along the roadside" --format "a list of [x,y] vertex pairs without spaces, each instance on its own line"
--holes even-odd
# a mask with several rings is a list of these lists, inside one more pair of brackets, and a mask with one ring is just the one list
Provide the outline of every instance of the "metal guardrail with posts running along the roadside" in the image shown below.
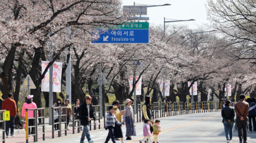
[[[210,112],[217,112],[220,111],[223,108],[224,101],[222,102],[194,102],[194,103],[183,103],[183,102],[155,102],[152,103],[152,117],[153,119],[157,118],[164,118],[169,116],[177,116],[181,114],[193,114],[193,113],[210,113]],[[234,105],[234,103],[232,103]],[[134,114],[134,119],[137,119],[137,122],[142,122],[142,106],[143,104],[137,104],[137,114]],[[100,118],[100,107],[99,105],[93,105],[92,108],[94,110],[94,116],[96,117],[96,121],[99,122],[98,127],[97,124],[90,124],[90,130],[93,129],[101,129],[101,119],[103,118],[104,127],[106,124],[106,113],[108,111],[109,106],[105,106],[105,114],[103,114],[102,118]],[[134,107],[134,106],[133,106]],[[77,127],[77,133],[81,132],[81,122],[77,118],[77,113],[75,113],[75,108],[79,108],[79,106],[72,106],[72,133],[75,134],[75,128]],[[121,104],[119,106],[119,109],[124,110],[125,105]],[[54,115],[54,110],[57,111],[57,115]],[[29,111],[32,111],[34,114],[33,118],[28,118]],[[41,112],[41,116],[35,116],[37,115],[37,112]],[[0,114],[3,114],[4,110],[0,110]],[[54,138],[54,132],[58,132],[58,137],[61,137],[62,127],[61,124],[64,123],[64,131],[65,136],[67,136],[67,107],[53,107],[52,108],[52,138]],[[2,117],[2,116],[1,116]],[[54,121],[54,118],[57,117],[57,121]],[[64,120],[62,121],[62,119]],[[38,124],[37,119],[41,119],[42,124]],[[37,109],[26,109],[26,142],[28,142],[28,137],[33,136],[34,142],[37,142],[37,136],[38,136],[38,127],[42,127],[42,140],[45,140],[45,108],[37,108]],[[5,142],[5,121],[0,119],[0,122],[2,122],[2,142]],[[33,122],[33,125],[29,126],[29,122]],[[56,125],[56,129],[54,128],[54,125]],[[29,134],[29,129],[34,129],[34,134]],[[1,140],[0,140],[1,141]]]

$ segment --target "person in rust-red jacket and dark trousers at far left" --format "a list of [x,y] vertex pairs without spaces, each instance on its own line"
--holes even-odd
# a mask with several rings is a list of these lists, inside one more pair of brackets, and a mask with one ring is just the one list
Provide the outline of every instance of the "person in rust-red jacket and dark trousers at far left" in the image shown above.
[[6,121],[6,138],[9,137],[9,128],[11,128],[11,136],[14,137],[14,119],[17,115],[16,102],[12,99],[12,93],[8,93],[7,99],[2,101],[2,109],[10,111],[10,120]]

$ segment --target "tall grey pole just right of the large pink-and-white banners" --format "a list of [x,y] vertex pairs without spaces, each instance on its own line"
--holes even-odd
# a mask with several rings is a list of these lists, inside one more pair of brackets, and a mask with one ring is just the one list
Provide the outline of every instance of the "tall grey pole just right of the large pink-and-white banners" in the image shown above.
[[[70,35],[71,35],[71,26],[66,28],[66,40],[69,42],[70,40]],[[67,55],[69,53],[69,47],[66,47],[66,62],[69,60],[69,63],[67,63],[67,69],[66,69],[66,98],[71,101],[71,55],[69,55],[69,59],[67,59]]]

